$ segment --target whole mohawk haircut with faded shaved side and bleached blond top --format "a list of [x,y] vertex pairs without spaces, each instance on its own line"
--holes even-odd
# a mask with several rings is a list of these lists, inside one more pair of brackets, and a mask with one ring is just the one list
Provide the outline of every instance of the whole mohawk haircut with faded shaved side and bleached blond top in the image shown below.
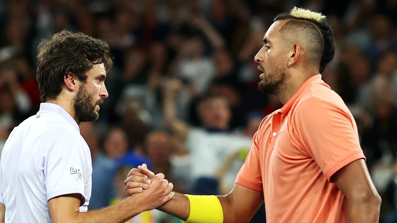
[[335,39],[327,17],[321,13],[294,7],[291,12],[276,16],[274,21],[288,20],[280,29],[285,38],[293,41],[299,38],[307,47],[308,57],[313,65],[318,66],[319,73],[335,55]]

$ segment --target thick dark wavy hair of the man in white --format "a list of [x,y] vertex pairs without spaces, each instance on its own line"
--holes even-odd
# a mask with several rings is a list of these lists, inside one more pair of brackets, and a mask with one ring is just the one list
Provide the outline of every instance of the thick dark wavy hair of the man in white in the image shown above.
[[61,31],[42,40],[38,51],[36,79],[42,102],[59,95],[69,72],[86,82],[94,64],[104,63],[106,72],[113,65],[109,45],[83,33]]

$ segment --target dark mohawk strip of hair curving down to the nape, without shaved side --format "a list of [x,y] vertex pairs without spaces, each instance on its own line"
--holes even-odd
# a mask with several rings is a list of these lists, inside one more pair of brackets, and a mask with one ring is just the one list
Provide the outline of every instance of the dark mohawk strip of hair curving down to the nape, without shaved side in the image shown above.
[[[319,19],[319,21],[310,17],[309,18],[297,17],[296,15],[293,14],[294,10],[305,10],[305,9],[295,7],[293,10],[291,10],[291,12],[284,12],[277,15],[274,18],[274,21],[278,21],[278,20],[302,21],[303,23],[312,24],[314,27],[316,27],[316,29],[318,29],[321,32],[322,38],[316,38],[316,41],[319,42],[318,43],[319,45],[323,46],[322,54],[320,58],[320,65],[319,65],[319,71],[320,73],[322,73],[326,65],[329,62],[331,62],[333,56],[335,56],[335,39],[333,37],[332,27],[330,23],[328,23],[327,18],[325,16],[322,16],[322,18]],[[287,25],[287,23],[285,25]],[[295,25],[299,25],[299,23],[295,22]],[[306,27],[310,28],[310,26],[307,25]]]

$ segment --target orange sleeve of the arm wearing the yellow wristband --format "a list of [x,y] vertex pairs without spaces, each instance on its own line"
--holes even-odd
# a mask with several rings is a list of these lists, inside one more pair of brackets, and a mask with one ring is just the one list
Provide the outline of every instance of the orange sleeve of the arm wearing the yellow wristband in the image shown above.
[[241,167],[235,183],[250,188],[252,190],[263,191],[262,173],[260,168],[260,152],[258,143],[258,132],[255,133],[252,139],[251,150],[243,166]]

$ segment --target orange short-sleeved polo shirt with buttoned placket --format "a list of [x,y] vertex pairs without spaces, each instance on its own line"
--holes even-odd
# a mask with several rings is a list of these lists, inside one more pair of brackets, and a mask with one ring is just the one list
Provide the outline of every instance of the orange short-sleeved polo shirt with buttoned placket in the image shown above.
[[331,176],[358,159],[353,115],[319,74],[263,119],[235,182],[264,192],[268,223],[345,223],[347,201]]

